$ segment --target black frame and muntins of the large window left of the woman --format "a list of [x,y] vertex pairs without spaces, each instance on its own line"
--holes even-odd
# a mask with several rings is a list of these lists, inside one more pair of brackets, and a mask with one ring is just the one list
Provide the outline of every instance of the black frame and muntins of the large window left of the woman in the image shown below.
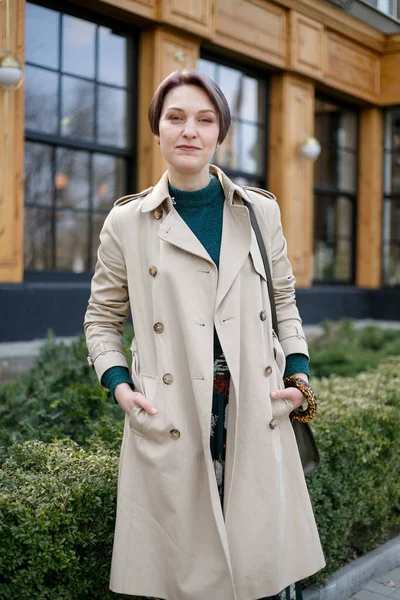
[[[63,15],[76,17],[80,19],[87,20],[91,23],[94,23],[98,26],[107,27],[112,29],[116,33],[125,34],[128,37],[128,56],[127,56],[127,73],[128,79],[126,82],[125,89],[130,94],[130,107],[128,112],[129,122],[128,122],[128,142],[126,148],[120,148],[116,146],[108,146],[104,144],[99,144],[96,142],[89,142],[73,137],[63,136],[60,133],[58,134],[47,134],[34,130],[30,130],[24,128],[24,144],[25,143],[39,143],[44,144],[51,148],[52,152],[52,177],[53,181],[55,180],[56,172],[56,152],[57,148],[65,148],[76,151],[86,151],[90,154],[90,177],[89,177],[89,207],[86,210],[77,209],[77,208],[68,208],[69,211],[74,213],[81,213],[85,215],[90,215],[88,219],[88,247],[87,247],[87,260],[89,264],[91,263],[92,255],[93,255],[93,215],[104,215],[104,219],[106,218],[109,211],[107,210],[99,210],[95,209],[93,206],[93,198],[94,198],[94,189],[93,189],[93,177],[92,177],[92,165],[93,165],[93,155],[94,154],[104,154],[112,157],[121,157],[126,161],[126,173],[125,173],[125,192],[130,193],[134,192],[137,187],[137,153],[138,153],[138,81],[139,81],[139,40],[140,40],[140,29],[133,25],[130,22],[120,21],[115,17],[109,17],[103,13],[96,12],[94,10],[90,10],[86,7],[79,6],[77,4],[72,4],[71,2],[63,1],[63,0],[28,0],[30,4],[34,4],[37,6],[41,6],[43,8],[47,8],[50,10],[54,10],[56,12],[62,13]],[[61,19],[60,19],[60,27],[61,27]],[[98,42],[96,41],[96,55],[95,60],[96,64],[98,64]],[[60,54],[61,44],[60,44]],[[58,123],[60,123],[61,118],[61,84],[60,79],[62,75],[68,75],[69,73],[63,71],[61,68],[61,56],[59,58],[58,68],[50,68],[45,67],[41,64],[26,61],[25,64],[27,66],[39,67],[48,72],[57,73],[58,75],[58,98],[57,98],[57,110],[58,110]],[[71,73],[75,78],[80,80],[88,81],[88,78],[83,76],[77,76],[74,73]],[[97,78],[97,74],[94,79],[90,79],[91,82],[94,83],[95,86],[101,84],[106,87],[118,87],[113,86],[112,84],[107,84],[104,82],[100,82]],[[94,110],[96,110],[96,106]],[[28,208],[38,208],[36,205],[30,204],[24,201],[24,207]],[[51,269],[25,269],[24,268],[24,280],[25,281],[58,281],[58,282],[82,282],[89,281],[93,276],[94,264],[90,264],[90,269],[85,269],[81,272],[60,270],[54,268],[56,264],[56,232],[55,232],[55,216],[56,210],[60,210],[56,206],[56,187],[53,186],[52,193],[52,203],[50,207],[44,207],[51,210],[51,236],[52,236],[52,265]]]

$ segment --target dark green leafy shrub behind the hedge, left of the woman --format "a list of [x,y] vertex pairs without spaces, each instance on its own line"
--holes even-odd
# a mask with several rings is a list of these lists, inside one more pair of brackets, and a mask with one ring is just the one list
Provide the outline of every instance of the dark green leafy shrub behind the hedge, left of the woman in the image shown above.
[[98,384],[83,338],[72,345],[50,336],[33,368],[0,388],[0,458],[16,442],[69,438],[118,449],[123,413]]

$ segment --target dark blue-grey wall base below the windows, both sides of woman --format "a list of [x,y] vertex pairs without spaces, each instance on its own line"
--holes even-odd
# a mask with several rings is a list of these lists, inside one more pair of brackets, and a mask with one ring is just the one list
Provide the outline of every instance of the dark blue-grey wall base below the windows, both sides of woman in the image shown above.
[[[0,285],[0,342],[83,332],[90,295],[87,275],[68,280],[49,274],[47,280],[27,275],[22,284]],[[297,290],[297,304],[305,324],[342,317],[400,321],[400,288],[365,290],[355,287],[314,286]]]

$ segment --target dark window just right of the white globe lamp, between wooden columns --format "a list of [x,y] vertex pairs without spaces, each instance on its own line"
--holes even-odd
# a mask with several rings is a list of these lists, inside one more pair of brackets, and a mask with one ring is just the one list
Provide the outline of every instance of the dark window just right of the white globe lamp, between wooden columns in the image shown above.
[[353,283],[358,174],[358,116],[331,100],[315,101],[321,154],[314,171],[314,281]]

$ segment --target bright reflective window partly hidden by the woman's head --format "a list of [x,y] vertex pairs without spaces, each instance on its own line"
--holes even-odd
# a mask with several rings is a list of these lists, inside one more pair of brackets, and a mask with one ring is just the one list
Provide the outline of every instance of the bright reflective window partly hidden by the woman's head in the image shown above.
[[215,152],[214,163],[240,185],[265,187],[267,103],[265,80],[202,58],[198,70],[221,88],[229,104],[232,125]]

